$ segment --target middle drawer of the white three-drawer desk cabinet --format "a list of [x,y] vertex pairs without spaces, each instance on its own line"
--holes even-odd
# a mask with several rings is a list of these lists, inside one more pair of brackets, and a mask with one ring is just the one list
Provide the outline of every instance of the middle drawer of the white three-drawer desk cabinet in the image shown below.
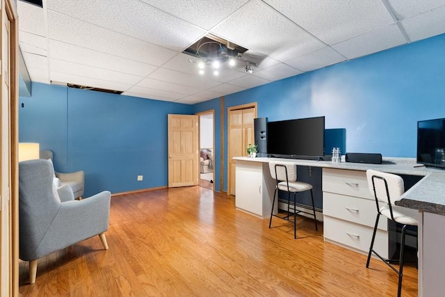
[[[323,214],[374,227],[377,207],[374,200],[323,192]],[[380,216],[378,228],[387,230],[388,220]]]

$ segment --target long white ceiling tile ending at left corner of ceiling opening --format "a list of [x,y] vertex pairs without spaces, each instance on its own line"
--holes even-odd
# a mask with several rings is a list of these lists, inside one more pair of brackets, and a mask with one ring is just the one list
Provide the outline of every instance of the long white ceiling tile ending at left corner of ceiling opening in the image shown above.
[[48,12],[49,38],[95,51],[102,51],[150,65],[162,65],[177,52],[127,35],[104,29],[79,19]]

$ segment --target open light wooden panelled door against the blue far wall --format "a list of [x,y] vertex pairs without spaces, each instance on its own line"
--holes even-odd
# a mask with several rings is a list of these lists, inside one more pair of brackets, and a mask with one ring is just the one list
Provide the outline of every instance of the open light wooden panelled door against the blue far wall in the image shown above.
[[168,187],[198,184],[197,115],[168,115]]

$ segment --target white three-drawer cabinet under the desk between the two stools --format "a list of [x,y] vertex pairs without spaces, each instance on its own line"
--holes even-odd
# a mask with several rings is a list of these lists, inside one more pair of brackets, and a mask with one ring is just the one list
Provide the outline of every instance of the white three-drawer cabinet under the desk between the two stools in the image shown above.
[[[323,168],[323,235],[326,241],[369,252],[377,209],[366,172]],[[387,220],[380,218],[374,249],[388,257]]]

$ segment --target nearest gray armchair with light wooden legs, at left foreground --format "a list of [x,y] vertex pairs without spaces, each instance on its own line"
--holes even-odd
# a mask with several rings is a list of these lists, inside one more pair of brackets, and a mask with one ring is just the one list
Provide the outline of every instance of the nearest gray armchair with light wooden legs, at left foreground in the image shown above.
[[44,159],[19,162],[19,258],[29,261],[29,282],[35,282],[40,257],[92,236],[108,250],[111,193],[103,191],[74,200],[70,187],[56,188],[54,169]]

